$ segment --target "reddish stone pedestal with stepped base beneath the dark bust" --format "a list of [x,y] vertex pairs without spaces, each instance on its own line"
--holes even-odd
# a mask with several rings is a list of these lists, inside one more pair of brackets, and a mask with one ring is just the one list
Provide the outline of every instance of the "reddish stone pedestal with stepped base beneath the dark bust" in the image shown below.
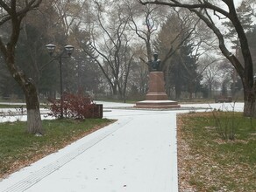
[[176,101],[168,100],[165,92],[163,72],[149,73],[149,90],[146,100],[136,103],[137,108],[178,108],[181,107]]

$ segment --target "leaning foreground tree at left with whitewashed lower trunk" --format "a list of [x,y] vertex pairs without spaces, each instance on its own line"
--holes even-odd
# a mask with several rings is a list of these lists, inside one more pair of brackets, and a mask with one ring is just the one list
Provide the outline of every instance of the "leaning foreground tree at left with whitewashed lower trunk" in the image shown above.
[[11,25],[9,36],[5,37],[5,39],[0,38],[0,50],[3,54],[5,64],[11,73],[11,76],[16,80],[18,85],[25,93],[27,130],[32,134],[42,133],[37,88],[33,82],[33,79],[27,77],[23,71],[18,69],[15,60],[15,51],[18,44],[22,20],[29,11],[38,8],[40,3],[41,0],[31,0],[25,2],[17,0],[0,0],[2,9],[0,16],[0,27],[6,27],[5,24],[7,23]]

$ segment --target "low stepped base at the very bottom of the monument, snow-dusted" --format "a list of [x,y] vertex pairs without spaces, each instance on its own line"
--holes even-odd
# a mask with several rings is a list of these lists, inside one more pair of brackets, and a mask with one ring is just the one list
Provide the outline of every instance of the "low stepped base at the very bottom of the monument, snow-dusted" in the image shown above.
[[173,100],[143,100],[136,103],[135,108],[180,108],[178,102]]

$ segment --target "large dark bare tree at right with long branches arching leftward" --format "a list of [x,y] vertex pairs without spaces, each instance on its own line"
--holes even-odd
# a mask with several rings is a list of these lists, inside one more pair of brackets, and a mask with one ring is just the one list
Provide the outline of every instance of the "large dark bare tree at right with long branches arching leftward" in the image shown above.
[[[249,49],[248,41],[245,35],[245,30],[238,18],[236,11],[236,6],[233,0],[219,0],[219,1],[197,1],[196,3],[182,3],[178,0],[170,1],[144,1],[139,0],[140,3],[149,4],[162,4],[169,7],[181,7],[190,10],[195,13],[197,17],[203,20],[205,24],[214,32],[218,39],[218,45],[224,57],[227,58],[231,65],[233,65],[238,72],[240,79],[242,80],[244,87],[244,115],[256,117],[256,81],[253,79],[252,70],[252,55]],[[225,44],[224,34],[217,27],[213,16],[222,19],[226,18],[231,21],[233,28],[238,34],[238,41],[241,46],[243,63],[242,64],[238,58],[231,53],[229,47]]]

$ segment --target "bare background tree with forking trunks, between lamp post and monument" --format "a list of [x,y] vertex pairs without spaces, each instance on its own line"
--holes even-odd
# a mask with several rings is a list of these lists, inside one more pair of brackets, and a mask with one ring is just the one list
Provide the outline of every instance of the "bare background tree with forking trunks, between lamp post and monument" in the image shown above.
[[119,95],[125,100],[127,81],[134,57],[127,34],[130,16],[125,14],[122,4],[115,2],[110,4],[110,10],[103,10],[102,4],[96,2],[97,24],[89,31],[89,46],[96,54],[92,55],[87,49],[83,51],[96,60],[113,95]]

